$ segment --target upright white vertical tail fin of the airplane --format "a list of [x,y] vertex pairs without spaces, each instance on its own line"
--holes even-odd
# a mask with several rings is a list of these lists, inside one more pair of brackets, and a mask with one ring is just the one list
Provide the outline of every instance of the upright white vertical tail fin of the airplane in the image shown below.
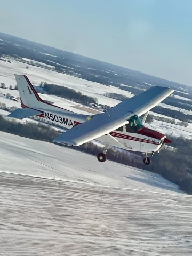
[[21,98],[21,107],[38,108],[42,107],[43,100],[39,97],[33,85],[30,83],[27,76],[14,75],[19,95]]

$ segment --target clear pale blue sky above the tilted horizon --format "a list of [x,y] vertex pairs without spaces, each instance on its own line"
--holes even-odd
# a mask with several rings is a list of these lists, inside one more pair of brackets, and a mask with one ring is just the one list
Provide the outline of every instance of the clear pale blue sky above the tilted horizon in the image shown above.
[[0,0],[0,31],[192,86],[190,0]]

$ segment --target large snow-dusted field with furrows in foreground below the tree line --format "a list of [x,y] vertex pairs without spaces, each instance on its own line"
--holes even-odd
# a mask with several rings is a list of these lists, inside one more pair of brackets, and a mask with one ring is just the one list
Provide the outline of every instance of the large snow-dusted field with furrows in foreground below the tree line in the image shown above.
[[0,143],[1,255],[191,255],[191,196],[160,175],[8,133]]

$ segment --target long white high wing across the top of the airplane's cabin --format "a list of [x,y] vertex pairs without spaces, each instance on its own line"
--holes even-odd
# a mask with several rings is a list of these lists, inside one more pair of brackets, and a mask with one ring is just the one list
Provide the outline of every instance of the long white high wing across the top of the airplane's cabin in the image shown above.
[[139,95],[122,101],[106,113],[95,115],[91,120],[62,133],[53,141],[68,146],[79,146],[97,139],[129,123],[127,121],[129,117],[145,114],[173,92],[173,89],[167,87],[151,87]]

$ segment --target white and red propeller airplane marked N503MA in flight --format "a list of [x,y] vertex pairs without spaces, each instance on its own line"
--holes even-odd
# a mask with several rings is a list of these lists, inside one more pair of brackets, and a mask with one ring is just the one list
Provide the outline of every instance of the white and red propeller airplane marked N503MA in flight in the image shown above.
[[[149,110],[173,93],[173,89],[153,86],[125,99],[105,113],[90,116],[76,114],[42,100],[26,75],[15,75],[15,79],[21,108],[12,111],[8,117],[23,119],[38,116],[59,124],[67,130],[53,140],[60,145],[77,147],[92,140],[102,142],[105,146],[97,156],[99,162],[105,162],[108,148],[115,146],[142,153],[143,163],[148,165],[148,154],[153,156],[154,153],[159,153],[165,143],[171,142],[166,135],[149,129],[144,124]],[[141,120],[139,117],[142,115]]]

